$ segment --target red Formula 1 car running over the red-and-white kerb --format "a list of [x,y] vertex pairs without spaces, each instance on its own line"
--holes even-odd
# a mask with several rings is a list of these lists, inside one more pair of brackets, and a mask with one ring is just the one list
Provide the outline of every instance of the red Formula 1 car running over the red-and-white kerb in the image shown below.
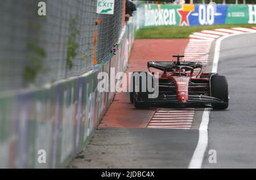
[[[150,61],[147,63],[149,72],[133,72],[130,101],[136,108],[148,108],[151,104],[211,106],[214,110],[228,108],[228,82],[225,76],[201,73],[203,65],[200,62],[180,62],[184,56],[173,57],[177,61]],[[200,72],[194,74],[195,69]],[[152,70],[160,72],[158,77]],[[154,97],[153,94],[157,95]]]

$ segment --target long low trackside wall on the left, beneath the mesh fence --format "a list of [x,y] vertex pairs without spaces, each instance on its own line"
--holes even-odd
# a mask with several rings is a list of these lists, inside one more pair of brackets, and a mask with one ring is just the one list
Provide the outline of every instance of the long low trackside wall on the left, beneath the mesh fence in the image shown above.
[[[93,135],[114,93],[100,93],[100,72],[122,72],[127,32],[116,55],[80,77],[42,89],[0,95],[0,168],[64,168]],[[111,78],[111,77],[110,77]],[[110,81],[110,79],[109,79]],[[42,155],[46,154],[46,163]]]

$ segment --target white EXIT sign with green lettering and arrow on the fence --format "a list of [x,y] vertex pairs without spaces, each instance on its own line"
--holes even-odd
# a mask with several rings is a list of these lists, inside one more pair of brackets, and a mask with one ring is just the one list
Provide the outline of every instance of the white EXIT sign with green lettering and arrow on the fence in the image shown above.
[[98,0],[98,14],[114,14],[115,0]]

